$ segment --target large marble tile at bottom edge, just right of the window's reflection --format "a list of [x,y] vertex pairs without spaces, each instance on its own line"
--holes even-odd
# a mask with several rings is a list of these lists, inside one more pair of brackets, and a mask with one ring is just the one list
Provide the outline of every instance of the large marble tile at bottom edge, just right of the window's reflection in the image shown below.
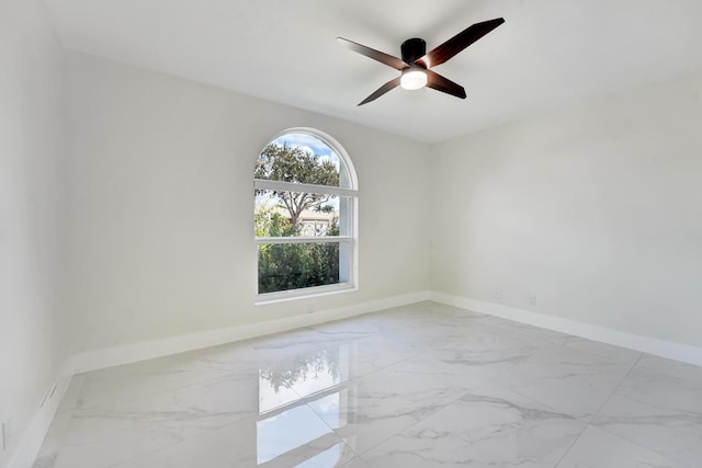
[[361,455],[370,468],[553,467],[586,423],[495,385]]

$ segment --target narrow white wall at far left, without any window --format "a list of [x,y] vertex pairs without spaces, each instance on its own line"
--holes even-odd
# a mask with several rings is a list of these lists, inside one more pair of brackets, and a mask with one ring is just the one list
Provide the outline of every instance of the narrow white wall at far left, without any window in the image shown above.
[[57,310],[61,52],[38,0],[0,2],[0,420],[8,465],[63,357]]

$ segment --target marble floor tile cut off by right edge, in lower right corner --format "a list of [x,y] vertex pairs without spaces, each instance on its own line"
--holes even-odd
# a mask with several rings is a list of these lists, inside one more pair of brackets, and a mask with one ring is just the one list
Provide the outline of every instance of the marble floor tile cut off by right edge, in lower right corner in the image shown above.
[[592,420],[680,466],[702,460],[702,368],[644,356]]

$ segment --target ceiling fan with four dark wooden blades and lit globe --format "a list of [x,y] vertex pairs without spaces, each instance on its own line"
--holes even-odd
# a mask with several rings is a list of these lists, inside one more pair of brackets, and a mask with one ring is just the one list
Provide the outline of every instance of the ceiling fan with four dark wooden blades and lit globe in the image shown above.
[[505,19],[496,18],[495,20],[475,23],[440,46],[434,47],[429,53],[427,53],[427,43],[424,39],[420,39],[418,37],[407,39],[400,47],[401,59],[383,52],[375,50],[371,47],[366,47],[362,44],[354,43],[353,41],[344,39],[343,37],[337,37],[337,41],[353,52],[358,52],[361,55],[393,67],[401,72],[399,77],[383,84],[370,96],[361,101],[359,105],[375,101],[398,85],[406,90],[418,90],[420,88],[428,87],[456,98],[465,99],[466,94],[462,85],[442,77],[430,68],[451,59],[453,56],[457,55],[464,48],[503,22]]

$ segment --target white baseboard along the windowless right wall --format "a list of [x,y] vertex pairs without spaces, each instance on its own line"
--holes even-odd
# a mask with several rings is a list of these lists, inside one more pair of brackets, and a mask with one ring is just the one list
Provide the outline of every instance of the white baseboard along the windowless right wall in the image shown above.
[[702,347],[642,336],[604,327],[535,313],[529,310],[502,306],[500,304],[452,296],[444,293],[431,292],[429,293],[429,299],[520,323],[559,331],[562,333],[586,338],[592,341],[599,341],[660,357],[667,357],[669,359],[702,366]]

